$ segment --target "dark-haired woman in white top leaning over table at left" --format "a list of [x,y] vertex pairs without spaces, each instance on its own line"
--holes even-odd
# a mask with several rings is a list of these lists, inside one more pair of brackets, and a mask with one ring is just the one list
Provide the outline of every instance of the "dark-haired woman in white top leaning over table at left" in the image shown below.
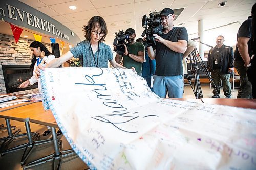
[[[44,44],[38,41],[34,41],[29,46],[30,50],[32,51],[32,59],[30,68],[33,70],[33,76],[19,85],[20,88],[26,88],[28,85],[33,85],[34,83],[38,82],[38,90],[41,93],[41,83],[39,82],[40,79],[36,77],[35,69],[39,64],[46,65],[53,59],[55,56],[46,48]],[[42,134],[47,136],[51,132],[51,128],[47,127],[47,130]],[[62,132],[58,130],[57,135],[61,135]]]

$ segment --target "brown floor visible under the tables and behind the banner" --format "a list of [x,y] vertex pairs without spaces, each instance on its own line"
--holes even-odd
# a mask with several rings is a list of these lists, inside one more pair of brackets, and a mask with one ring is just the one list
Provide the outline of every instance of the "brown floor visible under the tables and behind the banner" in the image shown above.
[[[201,89],[203,92],[203,97],[204,98],[210,98],[212,96],[212,89],[209,89],[209,84],[201,84]],[[234,90],[234,92],[232,92],[232,98],[236,98],[237,96],[237,89]],[[221,89],[221,94],[220,94],[221,98],[224,98],[224,94],[223,91]],[[190,85],[186,85],[184,87],[184,95],[183,98],[195,98],[195,94],[193,93],[193,90],[191,89]],[[5,124],[5,119],[0,118],[0,124],[4,123]],[[26,132],[25,129],[25,124],[22,122],[16,122],[16,121],[12,121],[11,120],[11,125],[16,125],[17,128],[21,128],[22,129],[22,133]],[[40,134],[42,134],[47,128],[45,126],[42,125],[38,125],[38,124],[33,124],[30,123],[31,126],[31,130],[32,131],[37,131]],[[0,132],[0,138],[4,137],[7,135],[7,132]],[[48,135],[48,137],[51,137],[51,135]],[[44,139],[44,137],[42,136],[41,139]],[[70,145],[68,144],[68,142],[66,141],[65,137],[62,137],[61,140],[63,141],[63,150],[69,149]],[[26,138],[23,138],[22,140],[18,140],[15,142],[13,142],[14,145],[17,144],[21,144],[21,143],[25,143],[27,142]],[[12,145],[10,145],[10,147],[12,147]],[[0,169],[22,169],[22,167],[20,166],[20,159],[22,157],[24,150],[20,150],[17,152],[13,152],[13,153],[8,153],[5,154],[4,156],[0,157]],[[53,143],[50,142],[48,144],[45,145],[41,145],[39,147],[35,147],[35,149],[32,151],[30,157],[28,158],[27,162],[30,162],[32,160],[38,159],[40,157],[49,155],[53,153]],[[34,168],[31,169],[51,169],[51,162],[47,162],[43,165],[39,165],[36,166]],[[61,165],[61,169],[87,169],[86,164],[84,164],[78,157],[76,159],[72,159],[72,157],[66,158],[64,159],[64,161],[62,162]]]

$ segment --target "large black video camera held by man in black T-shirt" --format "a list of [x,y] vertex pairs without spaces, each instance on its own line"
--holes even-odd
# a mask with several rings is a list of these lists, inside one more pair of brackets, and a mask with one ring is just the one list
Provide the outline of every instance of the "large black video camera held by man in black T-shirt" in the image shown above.
[[158,34],[159,36],[161,36],[163,33],[163,24],[160,14],[156,13],[156,15],[154,15],[151,12],[150,18],[144,15],[142,17],[142,27],[145,28],[141,36],[144,37],[146,35],[146,39],[144,41],[146,48],[148,46],[156,45],[155,37],[153,36],[153,34]]

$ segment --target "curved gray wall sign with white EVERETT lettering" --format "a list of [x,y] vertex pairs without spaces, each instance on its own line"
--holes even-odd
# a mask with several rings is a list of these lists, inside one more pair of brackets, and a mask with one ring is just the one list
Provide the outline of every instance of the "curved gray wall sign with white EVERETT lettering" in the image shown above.
[[[61,25],[53,18],[19,1],[1,1],[0,19],[6,20],[18,26],[29,28],[60,39],[80,41],[77,35],[71,34],[71,30]],[[74,42],[75,40],[75,42]]]

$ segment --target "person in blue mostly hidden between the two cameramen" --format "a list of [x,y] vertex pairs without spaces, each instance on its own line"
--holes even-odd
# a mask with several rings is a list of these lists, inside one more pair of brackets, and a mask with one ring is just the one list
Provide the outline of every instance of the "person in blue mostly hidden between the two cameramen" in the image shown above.
[[[142,38],[136,39],[136,42],[144,43]],[[147,50],[145,50],[145,60],[146,61],[142,63],[142,77],[146,79],[148,87],[151,87],[151,78],[156,71],[156,60],[151,60],[150,57],[148,57]]]

